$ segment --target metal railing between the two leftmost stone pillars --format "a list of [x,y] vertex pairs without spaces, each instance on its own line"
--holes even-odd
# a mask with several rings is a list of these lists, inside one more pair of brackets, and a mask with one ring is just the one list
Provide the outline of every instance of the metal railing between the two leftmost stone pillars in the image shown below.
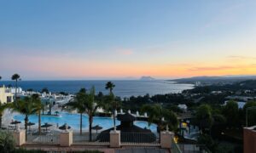
[[32,135],[28,134],[26,144],[60,144],[60,134]]

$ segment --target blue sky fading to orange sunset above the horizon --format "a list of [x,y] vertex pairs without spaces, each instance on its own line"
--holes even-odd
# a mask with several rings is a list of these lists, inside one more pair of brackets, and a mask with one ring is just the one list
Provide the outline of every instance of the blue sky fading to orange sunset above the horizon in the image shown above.
[[256,75],[255,0],[0,0],[0,76]]

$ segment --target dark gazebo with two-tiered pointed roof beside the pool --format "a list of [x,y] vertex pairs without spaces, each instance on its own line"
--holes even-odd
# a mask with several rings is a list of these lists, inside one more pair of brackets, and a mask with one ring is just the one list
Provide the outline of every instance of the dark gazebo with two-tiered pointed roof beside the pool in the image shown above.
[[[119,126],[116,127],[117,130],[121,132],[121,142],[132,142],[132,143],[152,143],[156,140],[156,136],[151,130],[137,127],[133,124],[136,121],[136,117],[129,113],[119,114],[117,119],[121,122]],[[102,131],[97,137],[99,141],[106,142],[109,141],[109,133],[113,130],[109,128]]]

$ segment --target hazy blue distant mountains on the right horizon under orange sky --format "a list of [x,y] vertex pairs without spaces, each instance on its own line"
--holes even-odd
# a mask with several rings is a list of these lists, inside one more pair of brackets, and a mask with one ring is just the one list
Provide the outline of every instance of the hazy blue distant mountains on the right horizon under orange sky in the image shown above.
[[256,80],[256,76],[222,76],[222,77],[189,77],[174,79],[172,81],[179,83],[201,83],[201,85],[209,84],[229,84],[234,82],[242,82],[246,80]]

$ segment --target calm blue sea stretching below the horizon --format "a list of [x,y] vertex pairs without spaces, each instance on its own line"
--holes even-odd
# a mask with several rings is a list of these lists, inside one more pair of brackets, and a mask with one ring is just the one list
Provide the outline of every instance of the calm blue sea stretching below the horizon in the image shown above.
[[[108,94],[105,84],[108,80],[84,80],[84,81],[20,81],[18,86],[23,90],[32,88],[33,91],[41,91],[42,88],[48,88],[50,92],[65,92],[75,94],[80,88],[96,88],[96,93],[102,92]],[[145,94],[177,94],[185,89],[194,88],[193,84],[181,84],[166,80],[113,80],[115,85],[113,93],[121,98],[131,96],[143,96]],[[0,85],[15,87],[14,81],[0,81]]]

